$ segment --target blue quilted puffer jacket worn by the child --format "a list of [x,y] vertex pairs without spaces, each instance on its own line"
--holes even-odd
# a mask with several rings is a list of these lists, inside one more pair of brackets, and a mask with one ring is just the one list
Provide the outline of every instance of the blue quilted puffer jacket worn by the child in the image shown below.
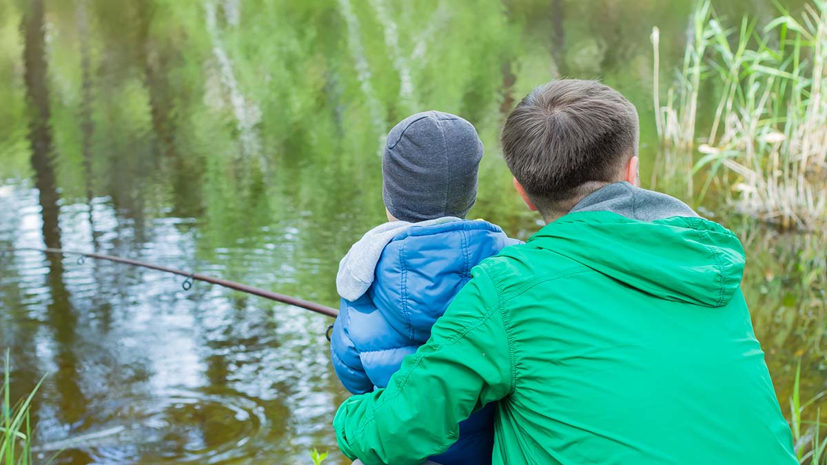
[[[354,394],[385,387],[431,335],[431,327],[471,279],[471,268],[514,240],[494,224],[454,220],[412,226],[381,252],[374,281],[355,301],[342,299],[331,335],[333,367]],[[433,457],[444,465],[491,463],[494,405],[460,424],[460,439]]]

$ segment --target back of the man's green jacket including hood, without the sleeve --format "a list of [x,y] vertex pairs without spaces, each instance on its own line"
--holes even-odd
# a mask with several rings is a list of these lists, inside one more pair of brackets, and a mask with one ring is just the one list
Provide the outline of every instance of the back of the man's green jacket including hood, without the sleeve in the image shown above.
[[571,213],[482,267],[514,352],[495,463],[796,463],[731,232]]

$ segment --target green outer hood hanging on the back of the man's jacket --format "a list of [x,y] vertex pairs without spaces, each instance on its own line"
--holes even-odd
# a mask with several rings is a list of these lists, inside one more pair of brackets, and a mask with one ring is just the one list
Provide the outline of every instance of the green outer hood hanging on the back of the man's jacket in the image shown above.
[[650,295],[706,307],[728,304],[743,275],[738,237],[703,218],[648,222],[610,212],[569,213],[528,244]]

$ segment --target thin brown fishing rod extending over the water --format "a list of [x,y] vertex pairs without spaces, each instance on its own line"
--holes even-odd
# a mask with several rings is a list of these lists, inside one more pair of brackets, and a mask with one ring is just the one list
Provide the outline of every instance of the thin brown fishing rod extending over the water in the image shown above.
[[265,299],[275,300],[276,302],[281,302],[282,304],[289,304],[294,305],[296,307],[301,307],[303,309],[308,309],[312,312],[316,312],[317,314],[327,315],[332,318],[336,318],[339,314],[337,309],[332,307],[328,307],[327,305],[317,304],[316,302],[311,302],[309,300],[299,299],[298,297],[293,297],[292,295],[284,295],[279,294],[276,292],[270,292],[270,290],[263,290],[258,287],[253,287],[251,285],[245,285],[241,283],[237,283],[231,280],[222,280],[221,278],[215,278],[213,276],[202,275],[200,273],[190,273],[188,271],[177,270],[175,268],[170,268],[168,266],[160,266],[154,265],[152,263],[146,263],[146,261],[137,261],[132,260],[131,258],[123,258],[122,256],[112,256],[112,255],[103,255],[100,253],[87,253],[87,252],[78,252],[74,250],[67,250],[67,249],[55,249],[55,248],[38,248],[38,247],[15,247],[17,250],[31,250],[36,252],[43,252],[43,253],[55,253],[60,255],[77,255],[78,256],[78,264],[83,265],[84,261],[87,258],[97,258],[98,260],[107,260],[107,261],[114,261],[116,263],[124,263],[126,265],[131,266],[141,266],[143,268],[149,268],[151,270],[157,271],[164,271],[165,273],[172,273],[178,276],[184,276],[186,280],[181,283],[181,287],[184,290],[189,290],[190,287],[193,285],[193,281],[203,281],[208,282],[214,285],[220,285],[232,290],[239,290],[241,292],[246,292],[247,294],[258,295],[259,297],[264,297]]

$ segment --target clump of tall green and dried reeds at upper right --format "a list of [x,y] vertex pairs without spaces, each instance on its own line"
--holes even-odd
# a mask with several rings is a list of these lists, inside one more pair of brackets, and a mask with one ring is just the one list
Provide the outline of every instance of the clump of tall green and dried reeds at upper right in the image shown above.
[[[700,2],[665,105],[655,86],[653,184],[677,182],[696,203],[713,188],[741,213],[816,230],[827,224],[827,2],[799,17],[779,10],[762,28],[747,18],[729,27]],[[652,38],[659,79],[657,30]],[[701,125],[699,97],[709,93],[719,103]]]

